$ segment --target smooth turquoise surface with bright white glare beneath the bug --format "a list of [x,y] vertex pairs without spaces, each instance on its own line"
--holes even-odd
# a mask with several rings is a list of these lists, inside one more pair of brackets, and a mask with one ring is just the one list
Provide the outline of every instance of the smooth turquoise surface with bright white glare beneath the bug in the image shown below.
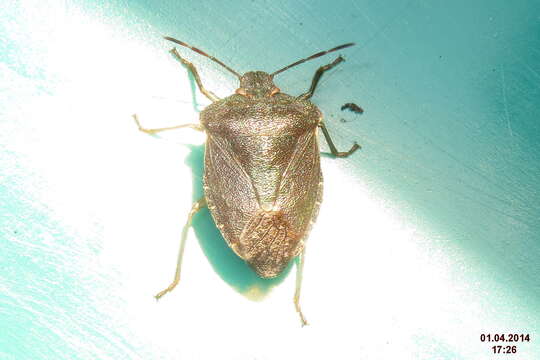
[[[152,272],[158,261],[149,259],[164,253],[160,242],[172,243],[177,234],[155,236],[151,246],[135,237],[151,238],[146,223],[181,227],[201,191],[202,148],[142,138],[129,116],[153,98],[158,108],[169,102],[183,107],[191,116],[186,122],[193,122],[205,104],[191,91],[193,83],[180,90],[185,70],[170,59],[163,35],[200,47],[239,72],[272,72],[357,43],[340,52],[346,62],[324,75],[313,98],[340,148],[355,140],[363,147],[344,162],[323,157],[330,184],[325,201],[336,204],[324,219],[334,225],[335,238],[319,239],[336,249],[322,269],[333,274],[329,282],[345,284],[355,300],[341,305],[328,290],[318,301],[335,304],[327,312],[348,308],[355,321],[335,316],[332,327],[322,320],[317,325],[323,310],[312,307],[312,325],[290,329],[248,315],[234,320],[244,302],[234,311],[212,305],[229,301],[212,294],[216,287],[216,294],[232,293],[234,304],[236,292],[255,286],[266,294],[284,286],[287,274],[257,279],[219,242],[205,212],[195,219],[195,237],[208,259],[202,267],[220,280],[201,280],[208,293],[200,306],[217,315],[194,315],[195,307],[189,326],[181,317],[163,325],[168,310],[154,310],[151,294],[172,276],[174,256],[163,267],[171,273],[159,276]],[[220,96],[234,90],[230,74],[181,51]],[[277,85],[302,93],[315,69],[334,55],[280,74]],[[540,359],[539,84],[538,1],[4,2],[0,359]],[[175,86],[174,94],[160,90]],[[342,112],[347,102],[364,114]],[[162,173],[155,160],[175,148],[185,156],[163,162],[185,168],[178,171],[187,177]],[[184,161],[173,163],[178,159]],[[362,228],[369,211],[356,195],[332,196],[338,192],[330,186],[341,184],[332,176],[369,189],[403,234],[377,242],[367,237]],[[175,189],[180,178],[185,184]],[[339,190],[346,194],[352,187]],[[165,199],[184,206],[158,220]],[[147,218],[137,217],[138,209]],[[341,226],[344,217],[353,220]],[[380,225],[381,231],[391,228]],[[348,240],[337,242],[341,237]],[[115,241],[123,238],[118,250]],[[195,245],[187,251],[196,252]],[[380,252],[372,255],[372,247]],[[417,247],[425,258],[416,250],[401,252]],[[362,266],[370,258],[373,267]],[[337,269],[346,271],[338,275]],[[433,283],[403,275],[409,271]],[[313,287],[327,280],[314,278]],[[196,291],[188,287],[182,294]],[[369,307],[363,299],[377,300]],[[298,325],[292,311],[287,316]],[[531,341],[515,343],[515,356],[494,355],[491,346],[502,343],[482,343],[482,333],[528,333]]]

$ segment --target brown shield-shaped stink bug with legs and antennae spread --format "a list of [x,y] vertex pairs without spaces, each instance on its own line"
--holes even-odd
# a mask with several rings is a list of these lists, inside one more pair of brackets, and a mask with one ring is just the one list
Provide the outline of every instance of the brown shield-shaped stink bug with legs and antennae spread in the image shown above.
[[275,75],[319,56],[354,45],[348,43],[296,61],[271,74],[250,71],[240,75],[230,67],[182,41],[165,39],[204,55],[240,80],[234,95],[224,99],[203,86],[195,66],[173,48],[171,53],[193,74],[200,91],[212,101],[200,114],[200,124],[145,129],[146,133],[191,127],[207,135],[204,157],[204,197],[193,204],[182,232],[174,281],[156,295],[160,298],[180,280],[182,254],[191,219],[202,207],[210,213],[227,244],[262,278],[279,275],[299,256],[294,305],[302,325],[300,287],[305,240],[322,201],[317,128],[335,157],[347,157],[360,146],[339,152],[322,121],[322,113],[309,99],[323,73],[343,61],[338,56],[321,66],[309,90],[300,96],[284,94],[274,85]]

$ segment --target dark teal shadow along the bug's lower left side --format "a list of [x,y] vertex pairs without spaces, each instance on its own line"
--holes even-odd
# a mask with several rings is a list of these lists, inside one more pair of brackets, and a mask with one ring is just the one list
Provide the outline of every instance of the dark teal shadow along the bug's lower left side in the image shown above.
[[[190,153],[186,165],[192,170],[193,201],[203,194],[204,145],[186,145]],[[193,218],[192,228],[199,244],[214,268],[214,271],[236,291],[251,300],[262,300],[270,290],[283,282],[292,268],[292,263],[277,277],[263,279],[248,264],[236,255],[223,239],[216,227],[208,207],[201,209]],[[189,239],[188,239],[189,240]],[[187,275],[186,275],[187,276]]]

